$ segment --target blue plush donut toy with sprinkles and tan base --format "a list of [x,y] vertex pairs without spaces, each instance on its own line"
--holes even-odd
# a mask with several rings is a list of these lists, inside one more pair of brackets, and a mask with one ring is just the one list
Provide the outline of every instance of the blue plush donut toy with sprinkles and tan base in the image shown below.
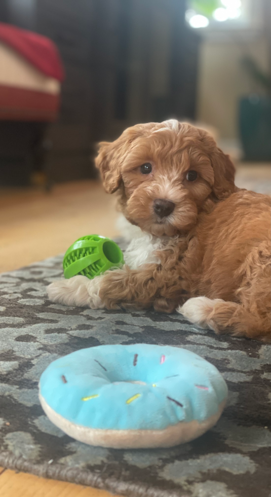
[[197,354],[160,345],[100,345],[57,359],[40,380],[44,411],[67,435],[113,448],[171,447],[211,428],[227,386]]

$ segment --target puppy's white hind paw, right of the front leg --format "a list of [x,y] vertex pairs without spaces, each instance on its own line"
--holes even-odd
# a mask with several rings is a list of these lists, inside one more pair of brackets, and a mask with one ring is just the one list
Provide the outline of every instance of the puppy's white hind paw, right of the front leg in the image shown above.
[[213,330],[212,319],[210,314],[217,302],[223,302],[221,299],[208,299],[208,297],[194,297],[188,299],[183,305],[176,310],[180,314],[199,328],[211,328]]

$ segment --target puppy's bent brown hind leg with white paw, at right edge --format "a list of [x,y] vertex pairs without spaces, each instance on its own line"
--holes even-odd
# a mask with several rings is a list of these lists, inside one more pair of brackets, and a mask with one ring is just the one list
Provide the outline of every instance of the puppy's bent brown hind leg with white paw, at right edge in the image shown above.
[[241,285],[237,302],[197,297],[177,311],[192,323],[216,333],[270,340],[270,242],[262,242],[248,255],[236,276]]

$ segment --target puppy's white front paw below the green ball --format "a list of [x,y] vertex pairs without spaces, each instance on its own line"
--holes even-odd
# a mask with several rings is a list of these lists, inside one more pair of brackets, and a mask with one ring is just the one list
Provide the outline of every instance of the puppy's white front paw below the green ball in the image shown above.
[[47,287],[50,300],[65,305],[102,309],[104,305],[99,297],[102,276],[89,279],[87,276],[73,276],[70,279],[54,281]]

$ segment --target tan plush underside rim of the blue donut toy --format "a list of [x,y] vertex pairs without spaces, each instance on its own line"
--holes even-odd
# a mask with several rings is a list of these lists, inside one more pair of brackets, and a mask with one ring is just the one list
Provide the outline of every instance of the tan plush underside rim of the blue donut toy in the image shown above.
[[43,410],[60,430],[85,444],[113,449],[139,449],[150,447],[173,447],[189,442],[203,435],[220,418],[225,407],[226,399],[219,405],[218,411],[213,416],[200,423],[197,420],[181,421],[169,426],[165,430],[101,430],[86,428],[80,424],[68,421],[57,414],[39,395]]

